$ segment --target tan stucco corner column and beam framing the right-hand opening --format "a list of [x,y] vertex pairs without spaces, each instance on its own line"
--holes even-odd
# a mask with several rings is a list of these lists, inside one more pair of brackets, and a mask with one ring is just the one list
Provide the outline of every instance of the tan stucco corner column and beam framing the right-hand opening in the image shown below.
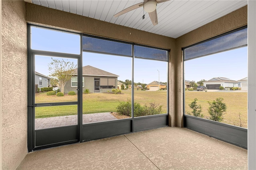
[[172,74],[174,96],[171,96],[170,105],[172,108],[172,126],[183,127],[183,58],[182,47],[192,45],[203,40],[207,40],[214,36],[218,36],[225,32],[240,28],[247,25],[247,6],[244,6],[230,14],[223,16],[213,22],[206,24],[188,34],[185,34],[176,39],[176,57],[171,57],[171,62],[174,63]]

